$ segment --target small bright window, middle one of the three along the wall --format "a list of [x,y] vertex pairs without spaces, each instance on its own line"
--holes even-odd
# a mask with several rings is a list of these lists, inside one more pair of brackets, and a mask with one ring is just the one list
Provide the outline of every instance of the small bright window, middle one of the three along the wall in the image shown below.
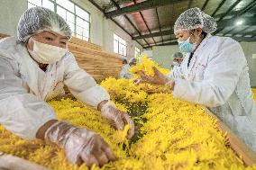
[[126,41],[118,35],[114,34],[114,52],[126,56],[127,45]]

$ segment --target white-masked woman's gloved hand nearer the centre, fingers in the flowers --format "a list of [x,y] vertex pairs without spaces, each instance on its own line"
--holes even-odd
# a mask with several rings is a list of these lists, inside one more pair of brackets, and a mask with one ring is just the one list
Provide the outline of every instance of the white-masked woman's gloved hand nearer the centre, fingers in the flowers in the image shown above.
[[114,123],[117,130],[123,130],[125,124],[129,124],[130,129],[128,130],[127,139],[131,139],[134,135],[134,122],[130,116],[117,109],[114,103],[106,102],[101,107],[102,115],[108,120]]

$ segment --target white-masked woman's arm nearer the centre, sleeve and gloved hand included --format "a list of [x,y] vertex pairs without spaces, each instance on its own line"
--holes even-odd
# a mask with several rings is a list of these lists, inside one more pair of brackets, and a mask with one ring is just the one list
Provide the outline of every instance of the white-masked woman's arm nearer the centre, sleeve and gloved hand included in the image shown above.
[[65,58],[65,78],[64,84],[69,87],[70,92],[78,98],[78,100],[97,107],[102,115],[108,120],[114,122],[115,128],[124,129],[124,124],[128,123],[130,130],[128,138],[132,138],[134,134],[133,120],[127,113],[120,111],[111,103],[109,94],[105,89],[96,84],[94,78],[80,67],[76,59],[71,53]]

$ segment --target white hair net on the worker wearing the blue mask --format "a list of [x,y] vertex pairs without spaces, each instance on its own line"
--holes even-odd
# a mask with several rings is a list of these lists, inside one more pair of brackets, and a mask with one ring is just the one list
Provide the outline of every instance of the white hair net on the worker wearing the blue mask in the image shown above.
[[174,24],[174,33],[201,28],[206,33],[213,33],[217,29],[215,19],[202,12],[199,8],[190,8],[178,16]]

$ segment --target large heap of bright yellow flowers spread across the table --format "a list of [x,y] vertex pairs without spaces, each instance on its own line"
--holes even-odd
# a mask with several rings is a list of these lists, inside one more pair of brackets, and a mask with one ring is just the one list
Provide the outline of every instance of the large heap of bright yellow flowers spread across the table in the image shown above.
[[[147,94],[144,88],[148,86],[133,85],[132,80],[107,78],[102,85],[118,108],[137,115],[134,121],[144,120],[140,128],[141,139],[128,144],[124,139],[127,128],[126,131],[114,130],[99,112],[75,100],[50,102],[59,120],[94,130],[110,145],[118,159],[101,169],[256,169],[256,166],[243,165],[241,158],[229,147],[225,134],[216,128],[215,120],[200,106],[174,99],[171,94],[163,93],[166,92],[164,88],[157,89],[159,94]],[[145,105],[147,111],[135,114],[131,103],[137,107]],[[87,166],[70,165],[64,151],[56,145],[20,139],[3,127],[0,129],[0,150],[54,170],[87,169]]]

